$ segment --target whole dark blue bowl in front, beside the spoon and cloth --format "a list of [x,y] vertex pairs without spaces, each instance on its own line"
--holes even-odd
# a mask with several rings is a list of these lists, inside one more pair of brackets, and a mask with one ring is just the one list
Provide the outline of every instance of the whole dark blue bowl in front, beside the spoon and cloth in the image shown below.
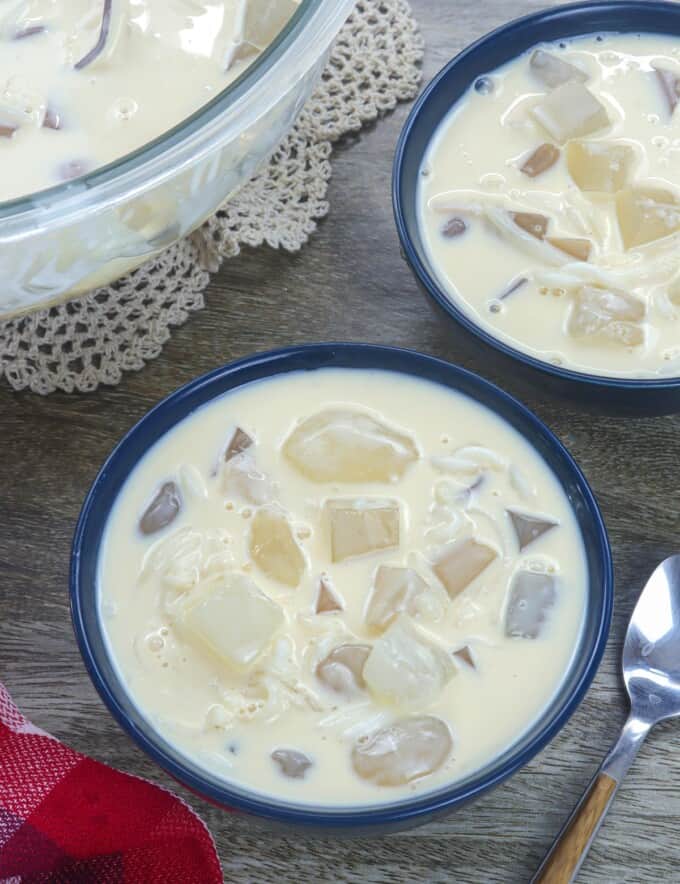
[[[148,449],[196,408],[253,381],[319,368],[385,369],[443,384],[487,406],[543,456],[566,492],[583,536],[589,570],[587,615],[559,695],[519,742],[454,786],[390,805],[334,811],[293,805],[231,786],[184,758],[135,708],[106,648],[97,604],[97,564],[111,508]],[[85,500],[73,541],[71,613],[80,651],[100,696],[118,723],[161,767],[204,798],[279,824],[317,830],[383,832],[451,811],[526,764],[567,722],[595,675],[611,618],[613,578],[607,533],[583,474],[557,438],[523,405],[474,374],[409,350],[361,344],[314,344],[251,356],[192,381],[153,408],[120,442]]]

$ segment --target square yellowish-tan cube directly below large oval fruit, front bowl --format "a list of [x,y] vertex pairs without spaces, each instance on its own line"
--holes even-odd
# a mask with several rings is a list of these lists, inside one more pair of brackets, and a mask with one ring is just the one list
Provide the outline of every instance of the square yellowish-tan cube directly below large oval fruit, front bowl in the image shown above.
[[328,500],[331,557],[350,556],[399,546],[399,503],[396,500]]

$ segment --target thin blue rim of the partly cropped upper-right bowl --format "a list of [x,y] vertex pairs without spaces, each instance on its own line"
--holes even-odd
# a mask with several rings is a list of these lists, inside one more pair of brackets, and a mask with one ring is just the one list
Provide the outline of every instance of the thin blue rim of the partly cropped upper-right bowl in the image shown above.
[[[508,22],[505,25],[501,25],[501,27],[496,28],[495,30],[490,31],[488,34],[480,37],[474,43],[471,43],[456,56],[454,56],[454,58],[452,58],[451,61],[448,62],[448,64],[444,65],[439,73],[433,77],[433,79],[428,83],[423,92],[420,94],[418,100],[416,101],[413,108],[411,109],[410,114],[408,115],[406,123],[404,124],[404,128],[401,131],[394,155],[394,164],[392,171],[392,208],[397,225],[397,233],[399,235],[404,255],[411,269],[420,281],[421,285],[425,288],[430,297],[433,298],[433,300],[436,301],[436,303],[446,313],[448,313],[449,316],[451,316],[453,319],[456,320],[456,322],[462,325],[463,328],[466,329],[466,331],[470,332],[472,335],[483,341],[485,344],[488,344],[495,350],[500,351],[505,356],[509,356],[511,359],[523,363],[529,368],[535,369],[539,372],[551,375],[552,377],[559,378],[561,380],[597,387],[600,388],[602,391],[612,389],[620,391],[627,390],[630,392],[639,392],[640,390],[677,390],[680,388],[680,376],[662,379],[618,378],[608,375],[595,375],[588,374],[586,372],[573,371],[568,368],[562,368],[561,366],[552,365],[549,362],[544,362],[543,360],[537,359],[534,356],[529,356],[527,353],[524,353],[521,350],[518,350],[515,347],[506,344],[504,341],[501,341],[490,332],[485,331],[483,328],[477,325],[477,323],[475,323],[474,320],[472,320],[463,310],[461,310],[459,307],[456,306],[456,304],[452,302],[448,295],[443,291],[439,282],[437,282],[435,276],[429,272],[428,268],[420,260],[420,257],[418,256],[418,253],[414,248],[411,235],[409,233],[409,225],[404,215],[404,205],[401,198],[404,155],[409,138],[411,137],[414,128],[418,125],[419,116],[423,108],[430,100],[433,93],[436,92],[438,88],[440,88],[440,84],[446,80],[452,69],[457,67],[469,56],[482,52],[485,47],[493,43],[499,37],[512,35],[514,32],[523,30],[528,26],[536,29],[535,43],[540,43],[542,40],[541,26],[548,22],[552,23],[555,21],[560,21],[562,19],[573,20],[575,17],[580,15],[584,15],[584,17],[591,17],[596,16],[598,13],[602,12],[606,12],[608,15],[611,15],[612,19],[615,21],[617,12],[629,13],[632,9],[644,11],[649,14],[650,26],[645,30],[646,33],[659,33],[658,29],[655,29],[653,26],[653,17],[655,13],[659,13],[662,11],[668,12],[672,10],[675,15],[680,16],[680,5],[676,2],[666,2],[666,0],[612,0],[612,2],[610,2],[610,0],[595,0],[595,2],[590,2],[590,0],[586,0],[586,2],[570,3],[565,6],[559,6],[557,8],[544,9],[540,10],[539,12],[533,12],[529,15],[522,16],[521,18],[513,19],[511,22]],[[611,28],[599,27],[595,30],[585,29],[583,33],[606,33],[608,30],[615,33],[621,33],[624,32],[626,29],[616,28],[615,26],[612,26]],[[642,29],[635,30],[638,31]],[[451,107],[453,107],[453,104],[451,105]]]

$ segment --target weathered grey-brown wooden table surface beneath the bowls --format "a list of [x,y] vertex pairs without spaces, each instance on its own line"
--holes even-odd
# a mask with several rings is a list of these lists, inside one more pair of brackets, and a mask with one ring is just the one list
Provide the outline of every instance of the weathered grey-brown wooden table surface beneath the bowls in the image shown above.
[[[545,0],[519,0],[522,14]],[[510,14],[504,0],[413,0],[429,79]],[[76,749],[177,788],[114,724],[85,673],[71,630],[67,575],[83,497],[116,440],[159,398],[256,350],[359,340],[462,361],[399,257],[390,165],[408,108],[339,146],[331,213],[302,252],[268,249],[228,261],[207,306],[161,358],[120,386],[39,398],[0,384],[0,677],[23,711]],[[510,392],[511,377],[492,375]],[[539,391],[524,397],[588,476],[610,532],[614,623],[604,662],[571,721],[510,782],[448,820],[376,840],[262,832],[182,792],[207,821],[231,881],[527,881],[625,715],[618,676],[625,624],[653,566],[677,552],[680,418],[585,415]],[[181,790],[178,790],[181,791]],[[580,880],[680,881],[680,731],[659,727],[624,782]]]

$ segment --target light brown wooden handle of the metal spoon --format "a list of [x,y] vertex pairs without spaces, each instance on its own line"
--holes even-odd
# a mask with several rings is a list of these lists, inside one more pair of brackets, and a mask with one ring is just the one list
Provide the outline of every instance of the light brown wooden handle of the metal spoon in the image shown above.
[[616,780],[608,774],[597,774],[532,878],[532,884],[569,884],[573,881],[617,786]]

